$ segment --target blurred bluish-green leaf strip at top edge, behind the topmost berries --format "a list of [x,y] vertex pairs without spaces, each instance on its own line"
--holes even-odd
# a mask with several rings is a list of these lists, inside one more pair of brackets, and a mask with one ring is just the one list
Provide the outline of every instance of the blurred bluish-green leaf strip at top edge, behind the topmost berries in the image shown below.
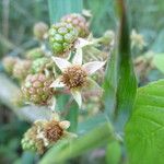
[[56,23],[68,13],[81,13],[82,0],[48,0],[50,23]]

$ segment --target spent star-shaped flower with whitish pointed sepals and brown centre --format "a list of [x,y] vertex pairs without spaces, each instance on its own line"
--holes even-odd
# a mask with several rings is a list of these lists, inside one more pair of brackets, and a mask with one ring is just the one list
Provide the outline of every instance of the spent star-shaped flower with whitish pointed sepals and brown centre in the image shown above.
[[86,82],[93,81],[89,77],[105,65],[105,62],[102,61],[93,61],[82,65],[82,47],[84,46],[86,46],[86,44],[77,46],[77,52],[72,59],[72,63],[66,59],[52,57],[52,60],[61,70],[62,74],[50,85],[50,87],[69,87],[72,96],[80,107],[82,105],[81,89],[86,84]]

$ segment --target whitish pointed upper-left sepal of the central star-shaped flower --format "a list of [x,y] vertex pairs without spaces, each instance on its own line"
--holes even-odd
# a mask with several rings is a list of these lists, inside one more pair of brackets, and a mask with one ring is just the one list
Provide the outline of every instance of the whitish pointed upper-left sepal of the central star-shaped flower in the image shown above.
[[71,63],[66,59],[58,58],[58,57],[51,57],[51,58],[62,72],[65,71],[66,68],[71,66]]

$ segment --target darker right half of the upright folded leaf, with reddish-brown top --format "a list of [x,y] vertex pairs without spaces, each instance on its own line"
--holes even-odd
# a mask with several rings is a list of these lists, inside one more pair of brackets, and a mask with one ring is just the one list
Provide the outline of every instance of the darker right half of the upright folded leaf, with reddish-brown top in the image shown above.
[[130,50],[130,32],[124,0],[120,5],[120,28],[118,43],[118,86],[117,109],[131,110],[137,91],[137,80],[133,72]]

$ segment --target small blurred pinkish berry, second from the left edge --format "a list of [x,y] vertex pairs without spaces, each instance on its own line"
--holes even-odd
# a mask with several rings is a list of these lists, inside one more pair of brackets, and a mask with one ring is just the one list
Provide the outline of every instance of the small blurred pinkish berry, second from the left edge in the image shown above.
[[30,73],[32,62],[30,60],[19,60],[13,68],[13,77],[17,80],[24,80]]

